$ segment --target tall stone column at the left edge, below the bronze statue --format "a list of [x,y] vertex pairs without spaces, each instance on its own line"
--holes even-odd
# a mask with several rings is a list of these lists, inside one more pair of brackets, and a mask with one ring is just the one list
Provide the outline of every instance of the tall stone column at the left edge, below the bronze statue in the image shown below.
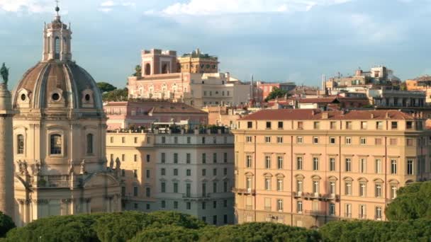
[[6,83],[0,84],[0,211],[14,217],[13,110]]

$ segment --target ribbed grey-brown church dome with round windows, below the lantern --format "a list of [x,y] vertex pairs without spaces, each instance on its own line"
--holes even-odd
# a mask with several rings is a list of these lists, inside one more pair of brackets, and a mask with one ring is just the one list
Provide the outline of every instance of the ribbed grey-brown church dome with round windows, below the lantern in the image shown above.
[[103,112],[99,88],[90,74],[74,62],[39,62],[13,90],[18,110],[96,109]]

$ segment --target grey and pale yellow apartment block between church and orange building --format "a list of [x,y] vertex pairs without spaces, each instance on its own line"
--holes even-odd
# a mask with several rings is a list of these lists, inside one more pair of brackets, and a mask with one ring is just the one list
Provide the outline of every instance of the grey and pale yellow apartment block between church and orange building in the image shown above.
[[121,161],[123,209],[172,210],[233,224],[233,135],[222,129],[108,132],[108,160]]

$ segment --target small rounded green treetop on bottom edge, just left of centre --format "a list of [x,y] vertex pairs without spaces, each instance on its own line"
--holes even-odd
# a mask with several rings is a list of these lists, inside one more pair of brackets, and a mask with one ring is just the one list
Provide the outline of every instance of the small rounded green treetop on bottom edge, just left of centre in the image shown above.
[[148,228],[141,231],[130,242],[191,242],[198,241],[199,230],[180,226]]

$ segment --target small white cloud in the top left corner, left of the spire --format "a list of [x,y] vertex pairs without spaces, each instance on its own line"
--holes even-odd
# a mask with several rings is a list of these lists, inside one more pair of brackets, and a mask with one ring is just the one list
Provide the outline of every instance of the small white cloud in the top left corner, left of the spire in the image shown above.
[[[51,6],[51,7],[49,7]],[[27,10],[30,13],[52,11],[53,4],[38,0],[0,0],[0,9],[6,12],[18,12]]]

